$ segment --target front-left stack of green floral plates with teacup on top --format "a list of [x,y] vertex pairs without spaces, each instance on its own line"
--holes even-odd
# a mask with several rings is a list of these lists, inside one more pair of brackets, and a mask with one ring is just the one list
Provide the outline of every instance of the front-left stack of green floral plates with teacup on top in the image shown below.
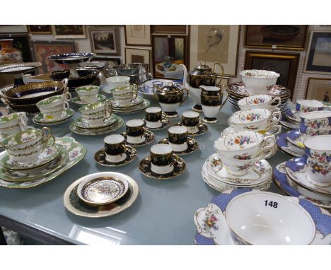
[[84,158],[86,148],[70,137],[27,129],[6,138],[0,154],[0,186],[29,188],[48,182]]

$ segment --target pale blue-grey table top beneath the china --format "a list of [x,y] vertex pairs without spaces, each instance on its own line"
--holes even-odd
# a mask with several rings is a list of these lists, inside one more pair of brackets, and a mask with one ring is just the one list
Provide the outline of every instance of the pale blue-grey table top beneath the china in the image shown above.
[[[149,100],[151,105],[158,105],[153,98]],[[190,110],[192,105],[194,102],[189,97],[178,112]],[[71,107],[75,110],[74,117],[50,128],[55,136],[72,136],[82,143],[87,148],[86,157],[54,180],[38,187],[0,187],[0,215],[75,244],[105,242],[113,245],[194,245],[194,212],[219,194],[204,183],[200,170],[204,160],[215,153],[213,143],[227,127],[228,116],[232,113],[228,102],[217,115],[219,122],[209,124],[209,131],[196,137],[199,150],[182,156],[187,165],[186,170],[173,180],[154,180],[142,175],[138,169],[139,161],[149,155],[153,143],[167,136],[167,129],[154,131],[156,140],[148,146],[137,148],[138,157],[132,163],[119,168],[106,168],[95,163],[93,156],[103,148],[103,138],[108,134],[83,136],[71,133],[69,125],[73,119],[79,117],[78,106],[71,104]],[[144,111],[120,116],[125,121],[143,119]],[[202,114],[200,116],[203,117]],[[180,122],[180,118],[171,119],[171,123]],[[32,116],[29,116],[29,124],[37,127],[32,122]],[[124,129],[123,126],[110,134],[119,134]],[[288,159],[289,155],[278,151],[268,161],[274,168]],[[63,204],[66,188],[84,175],[105,171],[122,172],[137,182],[139,196],[134,204],[121,213],[106,218],[84,218],[66,211]],[[268,191],[282,194],[274,183]]]

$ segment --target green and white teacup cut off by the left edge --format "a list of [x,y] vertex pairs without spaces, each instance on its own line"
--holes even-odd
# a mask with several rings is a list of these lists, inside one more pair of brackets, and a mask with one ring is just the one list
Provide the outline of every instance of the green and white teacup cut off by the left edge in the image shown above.
[[13,112],[0,117],[0,136],[6,137],[18,131],[25,130],[28,125],[28,117],[25,112]]

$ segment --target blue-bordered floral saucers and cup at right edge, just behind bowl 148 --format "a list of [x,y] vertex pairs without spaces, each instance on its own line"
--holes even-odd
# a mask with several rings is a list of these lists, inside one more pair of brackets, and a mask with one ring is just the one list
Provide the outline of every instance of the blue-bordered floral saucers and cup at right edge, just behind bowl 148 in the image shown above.
[[274,169],[274,182],[291,196],[331,209],[331,135],[304,141],[306,155],[291,158]]

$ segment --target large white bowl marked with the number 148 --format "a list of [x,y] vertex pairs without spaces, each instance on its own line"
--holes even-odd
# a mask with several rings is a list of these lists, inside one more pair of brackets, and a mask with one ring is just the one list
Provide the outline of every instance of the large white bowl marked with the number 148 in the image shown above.
[[226,206],[231,237],[239,245],[310,245],[315,223],[302,206],[271,192],[247,192]]

